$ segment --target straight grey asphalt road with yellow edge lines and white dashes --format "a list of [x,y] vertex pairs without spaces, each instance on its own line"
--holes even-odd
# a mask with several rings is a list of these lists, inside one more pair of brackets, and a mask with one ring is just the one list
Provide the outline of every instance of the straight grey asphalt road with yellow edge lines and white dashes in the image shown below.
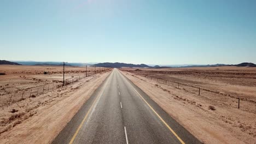
[[53,143],[200,143],[114,69]]

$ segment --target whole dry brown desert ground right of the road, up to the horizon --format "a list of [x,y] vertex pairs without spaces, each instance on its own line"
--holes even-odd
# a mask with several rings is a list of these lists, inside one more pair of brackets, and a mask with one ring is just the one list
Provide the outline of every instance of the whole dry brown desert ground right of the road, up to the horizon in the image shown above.
[[201,142],[256,143],[256,68],[120,70]]

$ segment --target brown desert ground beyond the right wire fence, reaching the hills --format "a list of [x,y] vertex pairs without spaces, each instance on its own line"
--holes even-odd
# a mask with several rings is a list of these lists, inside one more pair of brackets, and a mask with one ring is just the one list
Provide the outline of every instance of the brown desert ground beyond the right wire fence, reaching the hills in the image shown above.
[[[240,108],[255,112],[256,105],[256,68],[246,67],[209,67],[209,68],[168,68],[168,69],[123,69],[131,73],[159,77],[168,81],[175,81],[192,87],[181,86],[184,91],[218,97],[237,107],[240,98]],[[161,80],[159,80],[161,81]],[[165,83],[165,81],[161,81]],[[177,87],[177,83],[167,82],[167,85]]]

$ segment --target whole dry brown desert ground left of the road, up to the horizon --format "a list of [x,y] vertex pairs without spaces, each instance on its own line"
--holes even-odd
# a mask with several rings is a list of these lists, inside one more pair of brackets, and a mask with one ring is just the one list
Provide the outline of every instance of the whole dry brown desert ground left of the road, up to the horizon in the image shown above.
[[49,143],[110,70],[0,65],[0,143]]

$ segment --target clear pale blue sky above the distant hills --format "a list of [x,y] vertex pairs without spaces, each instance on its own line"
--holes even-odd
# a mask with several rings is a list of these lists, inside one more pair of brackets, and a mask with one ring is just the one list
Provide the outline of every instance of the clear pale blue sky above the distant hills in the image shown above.
[[0,1],[0,59],[256,63],[256,1]]

